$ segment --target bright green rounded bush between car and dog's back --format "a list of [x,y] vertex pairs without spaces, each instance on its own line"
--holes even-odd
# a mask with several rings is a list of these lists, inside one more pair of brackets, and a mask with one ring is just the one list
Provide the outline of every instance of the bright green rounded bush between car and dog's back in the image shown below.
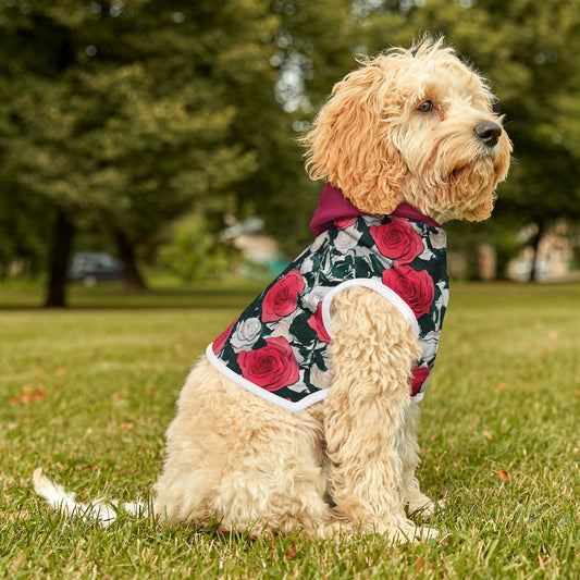
[[174,223],[172,239],[161,246],[160,258],[184,282],[219,280],[232,273],[240,259],[235,248],[209,231],[198,213]]

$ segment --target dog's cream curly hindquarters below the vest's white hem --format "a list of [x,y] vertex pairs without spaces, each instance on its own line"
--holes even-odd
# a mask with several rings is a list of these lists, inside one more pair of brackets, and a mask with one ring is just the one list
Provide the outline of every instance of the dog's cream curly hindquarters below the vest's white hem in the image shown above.
[[215,517],[224,530],[328,535],[334,525],[316,415],[272,405],[202,360],[168,430],[156,513],[169,523]]

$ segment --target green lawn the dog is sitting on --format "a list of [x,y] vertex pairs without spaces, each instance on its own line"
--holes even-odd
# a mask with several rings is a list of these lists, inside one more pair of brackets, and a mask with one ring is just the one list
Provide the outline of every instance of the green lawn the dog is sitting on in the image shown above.
[[0,577],[580,577],[579,285],[453,288],[421,404],[436,541],[252,541],[123,515],[101,529],[35,497],[38,466],[82,501],[147,493],[184,377],[256,291],[77,287],[75,308],[44,311],[36,289],[0,287]]

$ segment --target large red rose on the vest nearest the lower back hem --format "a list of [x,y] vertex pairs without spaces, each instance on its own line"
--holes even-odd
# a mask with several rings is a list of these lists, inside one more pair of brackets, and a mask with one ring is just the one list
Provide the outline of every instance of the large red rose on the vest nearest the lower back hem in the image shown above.
[[300,377],[298,362],[286,338],[267,338],[267,346],[256,350],[242,350],[237,363],[242,375],[266,391],[277,391],[294,384]]

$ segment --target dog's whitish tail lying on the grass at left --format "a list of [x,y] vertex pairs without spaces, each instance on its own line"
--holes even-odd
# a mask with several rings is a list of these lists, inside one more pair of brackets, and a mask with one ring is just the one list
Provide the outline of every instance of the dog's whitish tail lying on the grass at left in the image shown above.
[[52,509],[71,518],[94,519],[104,528],[116,519],[119,509],[137,517],[147,517],[149,514],[148,506],[143,502],[119,504],[116,501],[96,499],[88,504],[79,504],[75,502],[73,492],[67,492],[62,485],[52,483],[42,473],[41,467],[33,473],[33,484],[34,491],[46,499]]

